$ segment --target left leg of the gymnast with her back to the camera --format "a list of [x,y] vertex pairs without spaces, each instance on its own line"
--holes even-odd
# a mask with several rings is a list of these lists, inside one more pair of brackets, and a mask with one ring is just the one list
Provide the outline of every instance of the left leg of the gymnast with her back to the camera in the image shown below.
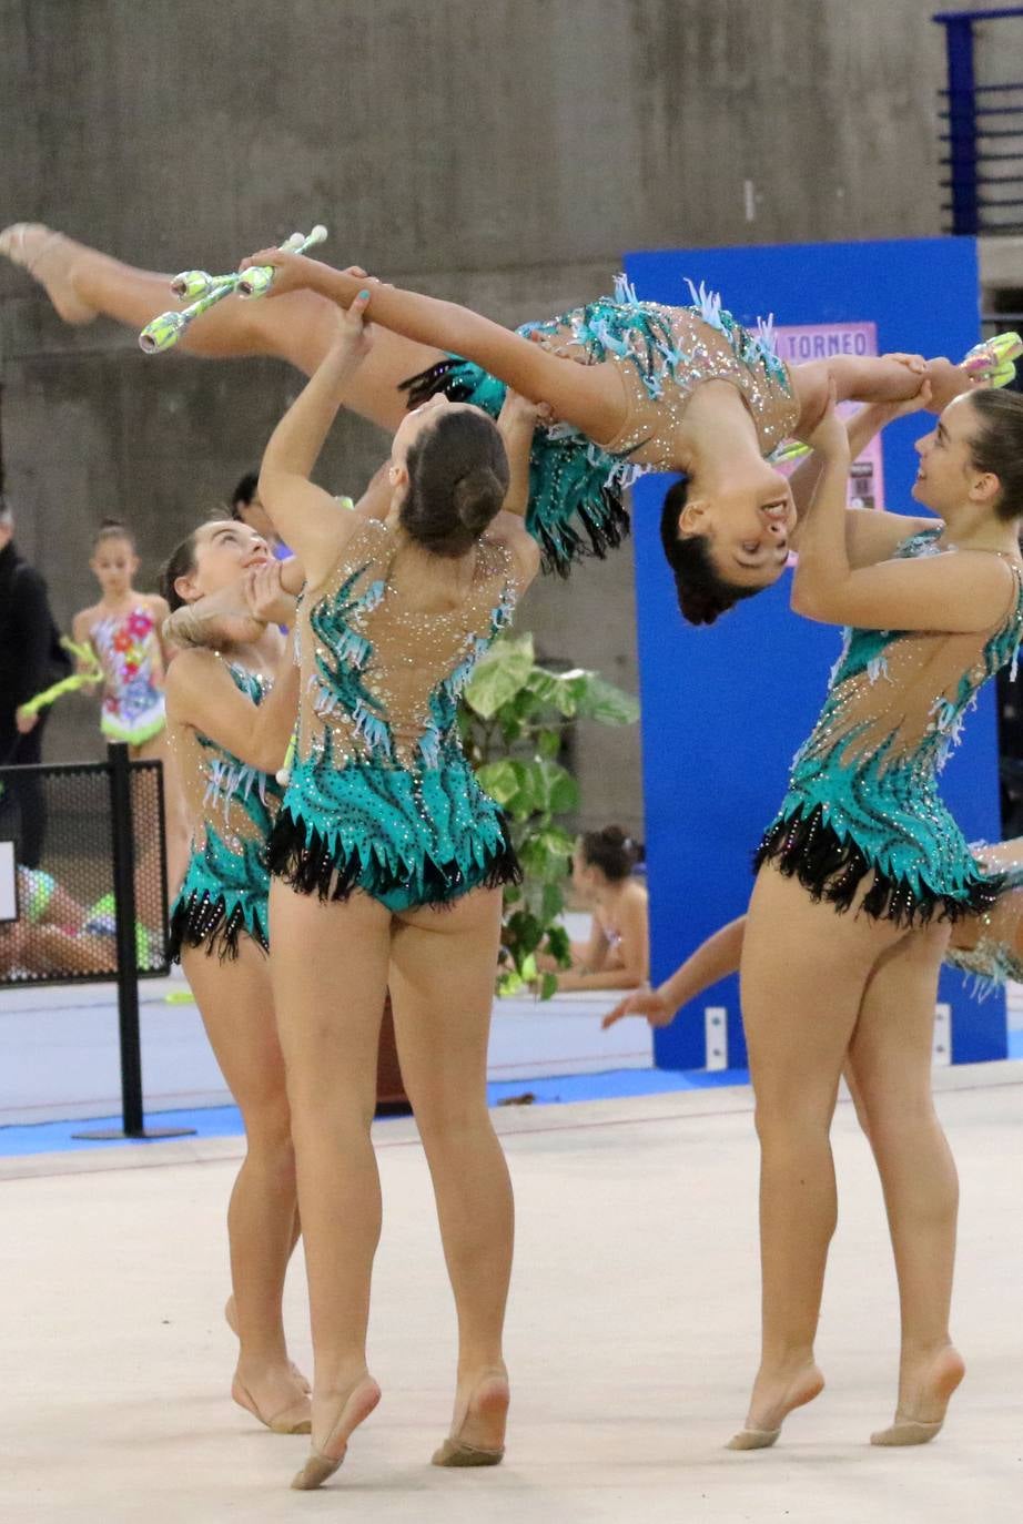
[[366,1367],[380,1241],[380,1175],[369,1128],[390,913],[358,893],[346,904],[320,904],[274,879],[270,928],[309,1277],[313,1448],[340,1460],[352,1428],[380,1396]]

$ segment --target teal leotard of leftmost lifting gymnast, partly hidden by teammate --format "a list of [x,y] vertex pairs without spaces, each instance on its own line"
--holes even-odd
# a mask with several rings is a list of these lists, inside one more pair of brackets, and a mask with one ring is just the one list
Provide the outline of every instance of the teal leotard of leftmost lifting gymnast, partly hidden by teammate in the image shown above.
[[[261,704],[268,680],[226,666],[235,687]],[[265,949],[267,838],[282,789],[192,725],[171,724],[171,745],[192,817],[192,855],[171,910],[171,956],[188,945],[235,957],[242,931]]]

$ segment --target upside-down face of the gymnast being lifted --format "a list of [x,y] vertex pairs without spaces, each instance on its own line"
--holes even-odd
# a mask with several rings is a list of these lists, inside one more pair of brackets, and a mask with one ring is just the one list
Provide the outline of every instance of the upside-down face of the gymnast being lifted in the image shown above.
[[788,564],[796,504],[787,477],[767,463],[753,480],[701,494],[694,477],[678,518],[678,535],[703,535],[723,582],[761,588],[778,582]]

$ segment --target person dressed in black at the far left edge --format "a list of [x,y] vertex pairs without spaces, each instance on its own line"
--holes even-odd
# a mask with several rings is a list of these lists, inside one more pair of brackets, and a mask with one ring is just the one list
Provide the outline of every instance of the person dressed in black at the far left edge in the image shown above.
[[[0,498],[0,765],[43,760],[47,710],[26,715],[21,706],[69,672],[46,582],[18,553],[14,514]],[[20,809],[18,861],[35,869],[46,834],[43,786],[34,776],[8,782],[0,812]]]

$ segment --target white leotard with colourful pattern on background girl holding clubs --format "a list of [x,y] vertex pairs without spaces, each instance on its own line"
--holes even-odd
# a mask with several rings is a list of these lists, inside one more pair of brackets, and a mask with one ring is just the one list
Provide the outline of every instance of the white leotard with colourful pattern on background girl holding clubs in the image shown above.
[[99,619],[88,631],[104,669],[99,727],[111,741],[140,747],[159,736],[163,713],[163,655],[156,620],[145,604]]

